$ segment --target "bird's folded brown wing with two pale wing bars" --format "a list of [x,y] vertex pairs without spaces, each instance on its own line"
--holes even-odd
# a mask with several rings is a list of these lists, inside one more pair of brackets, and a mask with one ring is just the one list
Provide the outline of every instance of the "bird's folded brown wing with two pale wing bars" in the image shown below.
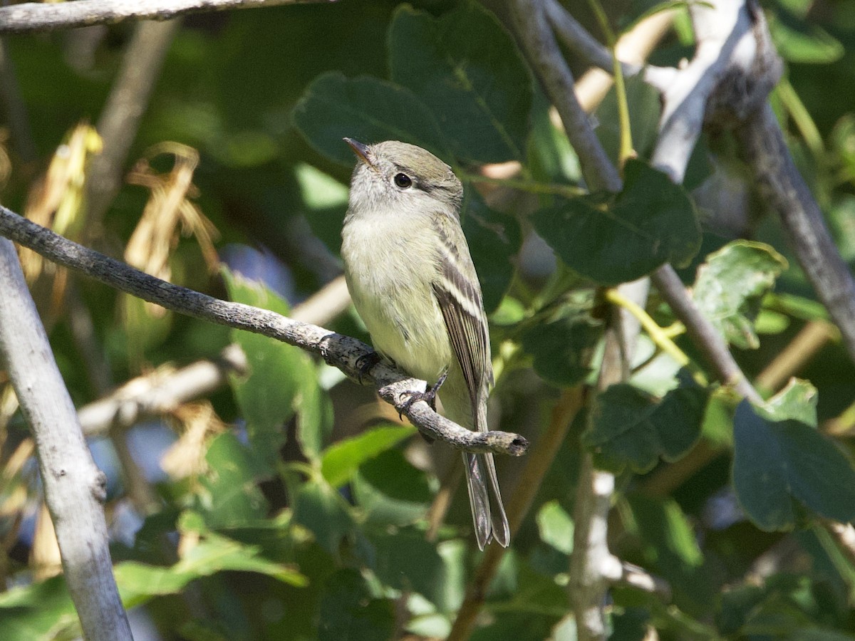
[[[460,223],[448,216],[438,216],[439,279],[433,283],[433,293],[445,320],[457,362],[469,388],[472,409],[478,415],[481,398],[492,385],[490,338],[481,298],[481,285],[469,246]],[[486,429],[486,427],[485,427]]]

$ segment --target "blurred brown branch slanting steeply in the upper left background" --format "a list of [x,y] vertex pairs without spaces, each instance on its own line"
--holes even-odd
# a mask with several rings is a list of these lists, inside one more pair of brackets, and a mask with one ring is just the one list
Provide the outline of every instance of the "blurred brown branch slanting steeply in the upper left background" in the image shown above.
[[[81,1],[89,0],[75,0],[62,6]],[[127,153],[137,137],[139,121],[179,26],[180,21],[139,23],[122,57],[121,69],[96,127],[103,140],[103,150],[91,159],[86,172],[86,221],[88,228],[96,233],[104,213],[121,187]]]

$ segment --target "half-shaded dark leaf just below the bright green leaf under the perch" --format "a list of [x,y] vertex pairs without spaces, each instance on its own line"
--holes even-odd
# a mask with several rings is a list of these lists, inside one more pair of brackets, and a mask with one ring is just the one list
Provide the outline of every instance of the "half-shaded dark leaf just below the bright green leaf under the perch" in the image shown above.
[[357,505],[370,523],[404,526],[421,519],[433,500],[425,473],[398,450],[364,462],[353,479]]

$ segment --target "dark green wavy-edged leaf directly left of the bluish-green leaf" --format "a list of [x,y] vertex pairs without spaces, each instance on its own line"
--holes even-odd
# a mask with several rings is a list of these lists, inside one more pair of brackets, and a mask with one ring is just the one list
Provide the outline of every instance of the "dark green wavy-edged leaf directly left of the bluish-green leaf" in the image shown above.
[[632,385],[611,385],[599,394],[582,442],[609,468],[648,472],[660,456],[676,461],[698,442],[707,396],[678,387],[655,403]]

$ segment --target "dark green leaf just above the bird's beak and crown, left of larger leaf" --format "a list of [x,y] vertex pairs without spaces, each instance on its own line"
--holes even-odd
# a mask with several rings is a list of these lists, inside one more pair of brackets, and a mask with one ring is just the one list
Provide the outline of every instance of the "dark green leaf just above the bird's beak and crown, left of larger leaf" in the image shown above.
[[315,150],[344,165],[356,162],[345,137],[365,144],[401,140],[445,162],[452,159],[445,134],[425,103],[409,89],[369,76],[318,76],[295,105],[292,120]]

